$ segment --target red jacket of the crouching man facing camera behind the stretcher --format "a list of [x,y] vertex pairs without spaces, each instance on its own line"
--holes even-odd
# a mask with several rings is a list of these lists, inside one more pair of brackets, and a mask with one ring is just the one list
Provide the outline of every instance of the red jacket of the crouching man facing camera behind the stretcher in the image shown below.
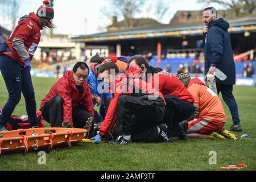
[[84,91],[80,97],[73,77],[73,71],[67,71],[65,75],[52,86],[46,97],[44,97],[40,105],[40,111],[42,111],[46,102],[55,96],[61,96],[64,100],[63,121],[73,123],[72,109],[78,106],[83,107],[86,111],[94,115],[92,94],[90,93],[87,82],[85,82],[83,89]]

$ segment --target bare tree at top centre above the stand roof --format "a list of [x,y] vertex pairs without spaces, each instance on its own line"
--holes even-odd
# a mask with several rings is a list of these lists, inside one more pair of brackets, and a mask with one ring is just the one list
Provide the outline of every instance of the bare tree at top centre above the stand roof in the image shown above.
[[143,0],[109,0],[108,6],[104,7],[101,12],[106,16],[121,17],[125,19],[126,27],[133,27],[133,18],[141,13],[143,5]]

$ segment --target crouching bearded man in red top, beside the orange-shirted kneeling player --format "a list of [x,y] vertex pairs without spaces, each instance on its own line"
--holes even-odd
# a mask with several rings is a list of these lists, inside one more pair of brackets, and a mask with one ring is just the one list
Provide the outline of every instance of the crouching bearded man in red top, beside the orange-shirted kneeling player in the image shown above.
[[179,80],[171,73],[162,71],[161,68],[154,68],[148,64],[148,60],[142,55],[131,57],[129,66],[138,69],[143,80],[154,86],[163,94],[166,101],[166,114],[163,123],[168,126],[167,135],[169,142],[172,137],[187,139],[187,122],[182,122],[193,114],[195,107],[194,98]]

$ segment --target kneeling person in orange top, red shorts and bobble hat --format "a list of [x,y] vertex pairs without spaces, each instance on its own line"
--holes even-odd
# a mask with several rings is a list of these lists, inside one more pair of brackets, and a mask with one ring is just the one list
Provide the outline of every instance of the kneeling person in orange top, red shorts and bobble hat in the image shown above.
[[226,136],[234,139],[234,134],[223,129],[227,119],[217,94],[198,78],[191,80],[189,74],[182,68],[177,70],[177,77],[195,99],[195,112],[188,119],[188,137],[225,139]]

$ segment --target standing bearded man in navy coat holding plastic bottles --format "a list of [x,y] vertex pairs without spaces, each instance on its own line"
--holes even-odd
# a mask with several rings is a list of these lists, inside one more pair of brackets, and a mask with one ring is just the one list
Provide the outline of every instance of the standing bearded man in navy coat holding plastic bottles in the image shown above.
[[232,46],[228,32],[229,23],[224,19],[217,19],[217,11],[208,7],[203,13],[205,34],[205,75],[213,74],[218,68],[227,76],[221,81],[216,78],[218,93],[221,92],[223,100],[232,114],[233,125],[230,130],[242,131],[238,114],[237,102],[233,96],[233,85],[236,84],[236,68],[234,64]]

